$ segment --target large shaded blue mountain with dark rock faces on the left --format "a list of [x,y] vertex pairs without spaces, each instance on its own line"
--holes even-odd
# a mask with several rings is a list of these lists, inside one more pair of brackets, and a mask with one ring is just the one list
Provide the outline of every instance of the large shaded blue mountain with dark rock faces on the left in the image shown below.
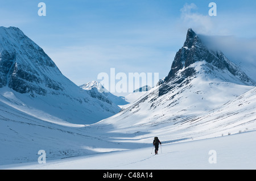
[[120,110],[108,98],[76,86],[15,27],[0,27],[0,92],[9,106],[47,121],[91,124]]

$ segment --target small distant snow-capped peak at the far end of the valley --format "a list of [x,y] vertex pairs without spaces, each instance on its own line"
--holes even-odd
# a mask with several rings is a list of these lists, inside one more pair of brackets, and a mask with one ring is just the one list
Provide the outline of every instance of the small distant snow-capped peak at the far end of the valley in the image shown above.
[[126,102],[123,96],[116,96],[112,94],[111,92],[106,90],[104,86],[101,85],[100,82],[92,81],[92,82],[85,83],[80,87],[84,90],[88,90],[91,96],[96,97],[98,99],[109,99],[114,104],[119,106],[129,104],[129,102]]

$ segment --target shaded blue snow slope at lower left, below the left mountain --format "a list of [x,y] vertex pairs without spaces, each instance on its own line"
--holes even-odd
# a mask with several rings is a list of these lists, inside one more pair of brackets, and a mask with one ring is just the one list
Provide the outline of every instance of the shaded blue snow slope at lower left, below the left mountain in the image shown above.
[[0,102],[0,165],[33,162],[42,149],[51,160],[94,154],[91,147],[104,146],[111,151],[117,145],[100,138],[98,133],[88,133],[85,125],[42,116],[44,119],[38,119]]

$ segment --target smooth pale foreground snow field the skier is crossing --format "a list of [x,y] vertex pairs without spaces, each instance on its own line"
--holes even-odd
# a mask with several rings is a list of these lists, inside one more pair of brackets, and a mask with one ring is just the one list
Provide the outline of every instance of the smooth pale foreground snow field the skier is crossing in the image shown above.
[[[146,147],[57,159],[42,164],[2,165],[0,169],[256,169],[255,142],[256,131],[251,131],[163,144],[162,148],[159,146],[158,155],[154,155],[152,147]],[[214,161],[216,163],[210,163]]]

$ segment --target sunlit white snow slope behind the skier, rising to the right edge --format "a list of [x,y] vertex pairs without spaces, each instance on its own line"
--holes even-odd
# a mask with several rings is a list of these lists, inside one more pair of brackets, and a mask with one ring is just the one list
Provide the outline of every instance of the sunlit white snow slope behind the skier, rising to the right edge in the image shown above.
[[[147,112],[131,115],[122,112],[102,120],[90,127],[110,129],[112,133],[133,135],[124,142],[151,142],[152,137],[159,136],[165,141],[198,140],[220,137],[256,130],[256,88],[230,100],[228,103],[197,115],[171,117],[168,115],[148,116]],[[159,111],[160,112],[160,111]],[[167,113],[166,113],[167,114]],[[125,120],[125,121],[124,121]],[[122,138],[120,138],[122,140]]]

